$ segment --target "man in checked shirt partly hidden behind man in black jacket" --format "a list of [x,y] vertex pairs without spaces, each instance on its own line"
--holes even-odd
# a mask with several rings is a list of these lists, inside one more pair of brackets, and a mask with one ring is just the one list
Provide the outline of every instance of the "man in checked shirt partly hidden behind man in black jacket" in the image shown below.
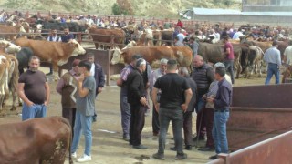
[[128,87],[127,79],[130,72],[134,69],[136,60],[141,56],[134,55],[131,57],[131,63],[127,67],[124,67],[120,72],[120,78],[117,80],[117,86],[120,87],[120,113],[121,113],[121,128],[123,132],[123,139],[129,141],[129,129],[130,129],[130,104],[128,103]]

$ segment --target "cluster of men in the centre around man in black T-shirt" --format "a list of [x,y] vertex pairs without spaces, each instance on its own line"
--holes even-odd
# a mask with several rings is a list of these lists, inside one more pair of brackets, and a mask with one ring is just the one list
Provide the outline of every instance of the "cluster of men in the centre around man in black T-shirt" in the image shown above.
[[[228,47],[227,47],[228,48]],[[228,56],[228,54],[226,54]],[[158,136],[158,152],[155,159],[164,159],[166,134],[172,121],[173,138],[177,151],[175,159],[187,159],[183,152],[183,131],[185,149],[191,150],[193,141],[204,139],[207,130],[206,147],[199,150],[228,153],[226,122],[232,101],[232,81],[227,76],[223,63],[214,69],[204,63],[203,57],[193,58],[193,73],[186,67],[178,67],[177,61],[161,59],[158,69],[146,71],[149,64],[139,55],[132,56],[129,66],[122,69],[117,85],[120,86],[120,111],[123,139],[133,149],[148,149],[141,143],[141,132],[145,123],[145,111],[149,108],[148,88],[153,102],[152,132]],[[147,77],[149,79],[147,79]],[[148,82],[149,81],[149,82]],[[149,85],[148,85],[149,83]],[[192,112],[197,113],[197,136],[193,138]]]

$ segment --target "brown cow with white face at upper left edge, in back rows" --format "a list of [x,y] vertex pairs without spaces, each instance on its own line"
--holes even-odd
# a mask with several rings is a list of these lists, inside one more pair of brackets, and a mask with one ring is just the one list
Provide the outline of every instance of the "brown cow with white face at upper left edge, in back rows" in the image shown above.
[[26,33],[26,30],[21,25],[16,26],[0,25],[0,38],[14,40],[17,34],[19,33]]

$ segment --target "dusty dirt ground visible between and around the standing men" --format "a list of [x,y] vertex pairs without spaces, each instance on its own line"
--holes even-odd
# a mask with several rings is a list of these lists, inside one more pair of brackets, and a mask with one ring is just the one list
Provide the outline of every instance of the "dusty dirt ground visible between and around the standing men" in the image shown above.
[[[42,68],[45,73],[48,72],[47,68]],[[56,81],[50,80],[49,85],[51,88],[51,99],[48,105],[47,116],[60,116],[61,104],[60,96],[56,92]],[[262,85],[265,82],[264,77],[252,77],[250,79],[239,78],[235,80],[235,86],[250,86],[250,85]],[[275,79],[272,79],[272,83],[275,83]],[[193,150],[184,150],[188,154],[188,159],[183,161],[175,161],[174,157],[176,152],[169,150],[173,147],[172,131],[167,136],[167,144],[165,150],[164,161],[151,158],[151,155],[157,152],[158,139],[152,136],[151,132],[151,112],[146,117],[145,127],[142,131],[141,142],[148,147],[146,150],[132,149],[128,142],[122,139],[122,131],[120,126],[120,87],[115,86],[114,81],[111,81],[112,86],[104,88],[103,92],[99,94],[96,100],[96,108],[98,110],[98,121],[93,123],[93,147],[92,147],[92,161],[88,163],[98,164],[151,164],[151,163],[206,163],[209,161],[208,157],[214,155],[214,152],[201,152],[193,147]],[[19,122],[21,121],[21,107],[17,108],[16,112],[10,112],[8,115],[6,107],[0,117],[0,124]],[[195,114],[193,114],[193,122],[195,122]],[[195,124],[193,124],[195,127]],[[172,129],[170,127],[170,129]],[[193,128],[193,131],[195,129]],[[204,142],[199,143],[200,146],[204,145]],[[84,138],[81,137],[78,157],[83,154]],[[68,163],[68,161],[66,162]]]

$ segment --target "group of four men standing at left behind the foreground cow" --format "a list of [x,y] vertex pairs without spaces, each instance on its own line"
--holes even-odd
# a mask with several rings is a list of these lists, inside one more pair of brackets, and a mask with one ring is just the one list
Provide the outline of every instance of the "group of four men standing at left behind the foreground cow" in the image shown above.
[[[102,67],[94,63],[94,55],[88,54],[86,60],[75,59],[72,69],[57,83],[61,95],[62,116],[68,118],[72,127],[72,157],[77,158],[81,132],[85,137],[84,155],[77,161],[91,160],[92,121],[96,121],[95,99],[104,87],[105,76]],[[22,120],[44,118],[47,115],[50,88],[46,75],[38,70],[40,59],[32,56],[29,68],[19,77],[18,95],[24,101]]]

